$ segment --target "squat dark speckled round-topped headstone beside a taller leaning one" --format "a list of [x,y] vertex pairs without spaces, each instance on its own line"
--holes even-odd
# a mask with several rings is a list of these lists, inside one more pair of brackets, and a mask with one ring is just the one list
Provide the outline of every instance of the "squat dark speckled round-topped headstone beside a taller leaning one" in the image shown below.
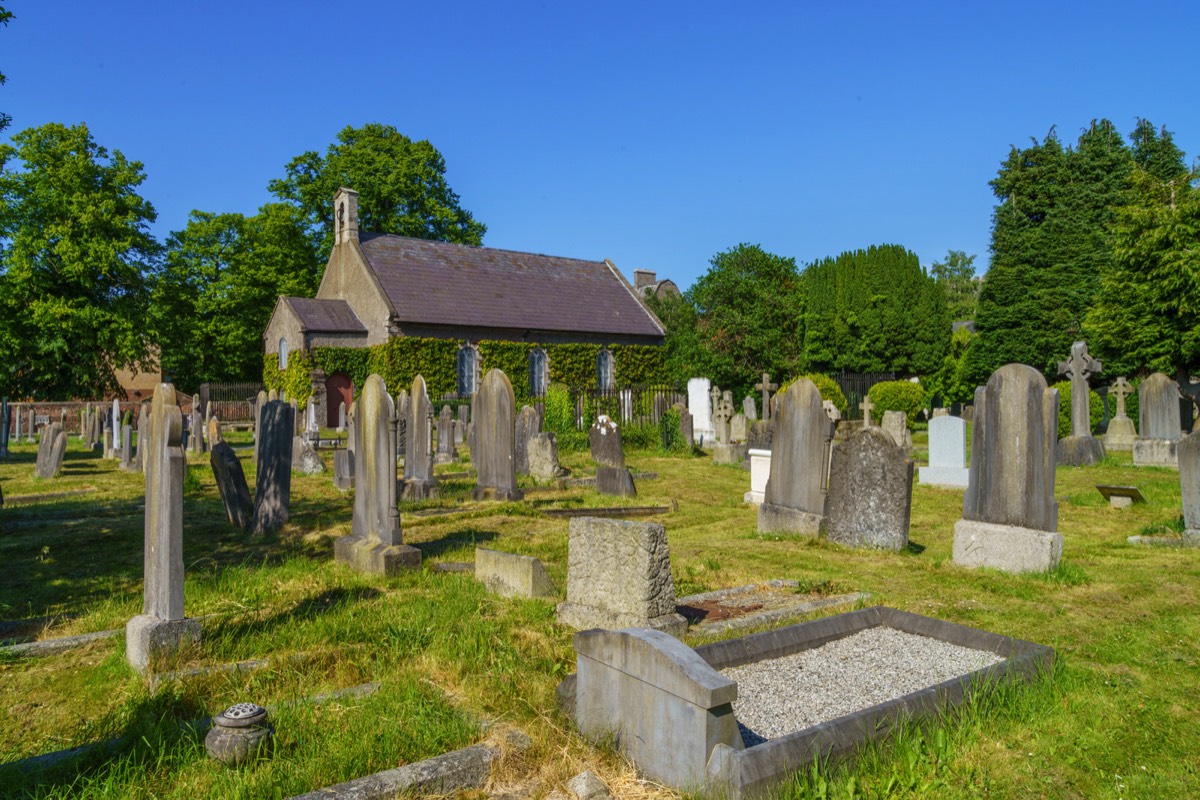
[[826,537],[848,547],[908,547],[912,461],[882,428],[862,428],[833,451]]

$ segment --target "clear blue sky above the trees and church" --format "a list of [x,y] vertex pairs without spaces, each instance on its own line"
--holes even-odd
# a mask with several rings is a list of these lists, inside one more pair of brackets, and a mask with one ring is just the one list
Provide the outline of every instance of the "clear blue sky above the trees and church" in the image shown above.
[[253,213],[347,125],[432,142],[485,245],[682,288],[739,242],[988,263],[1009,146],[1094,118],[1200,154],[1200,4],[4,0],[6,133],[86,122],[155,233]]

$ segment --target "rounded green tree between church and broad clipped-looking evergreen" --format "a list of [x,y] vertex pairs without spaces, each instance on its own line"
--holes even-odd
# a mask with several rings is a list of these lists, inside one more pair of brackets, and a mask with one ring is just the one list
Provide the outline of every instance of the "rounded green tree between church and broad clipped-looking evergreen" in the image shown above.
[[743,243],[709,264],[684,293],[696,313],[698,348],[708,354],[701,362],[707,377],[740,396],[763,371],[794,372],[804,307],[796,260]]

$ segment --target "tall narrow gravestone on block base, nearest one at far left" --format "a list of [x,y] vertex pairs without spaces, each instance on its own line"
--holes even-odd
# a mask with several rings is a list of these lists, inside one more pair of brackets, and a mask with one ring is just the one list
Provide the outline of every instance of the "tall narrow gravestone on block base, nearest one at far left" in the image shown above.
[[184,616],[184,417],[175,387],[154,391],[146,447],[145,579],[142,614],[125,626],[125,656],[138,672],[198,644],[200,624]]

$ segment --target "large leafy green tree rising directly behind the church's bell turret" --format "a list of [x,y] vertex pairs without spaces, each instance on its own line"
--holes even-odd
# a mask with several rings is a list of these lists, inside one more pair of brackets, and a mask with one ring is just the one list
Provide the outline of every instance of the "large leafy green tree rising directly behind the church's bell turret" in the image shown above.
[[422,139],[390,125],[346,127],[325,155],[302,152],[272,180],[272,194],[300,210],[316,254],[334,246],[334,194],[359,192],[359,228],[371,233],[481,245],[487,227],[458,205],[445,180],[445,160]]

